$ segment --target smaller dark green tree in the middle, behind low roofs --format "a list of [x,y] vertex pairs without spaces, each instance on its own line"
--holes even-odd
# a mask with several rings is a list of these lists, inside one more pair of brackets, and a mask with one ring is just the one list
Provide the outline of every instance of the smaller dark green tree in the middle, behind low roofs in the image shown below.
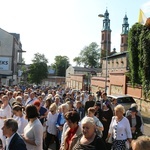
[[67,56],[56,56],[55,62],[51,64],[51,67],[55,70],[57,76],[66,75],[66,69],[70,66],[69,58]]

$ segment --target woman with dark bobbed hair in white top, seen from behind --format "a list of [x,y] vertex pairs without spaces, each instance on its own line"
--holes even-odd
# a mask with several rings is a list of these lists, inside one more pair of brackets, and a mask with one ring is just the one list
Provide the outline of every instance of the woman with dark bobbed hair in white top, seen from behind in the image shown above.
[[38,119],[38,110],[34,105],[28,105],[25,111],[29,122],[24,128],[22,137],[26,143],[27,150],[42,150],[43,126]]

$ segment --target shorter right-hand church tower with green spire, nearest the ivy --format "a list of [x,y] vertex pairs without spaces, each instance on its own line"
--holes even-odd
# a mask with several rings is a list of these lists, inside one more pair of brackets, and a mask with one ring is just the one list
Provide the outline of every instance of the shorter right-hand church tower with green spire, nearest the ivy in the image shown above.
[[123,24],[122,24],[120,52],[127,51],[128,31],[129,31],[128,17],[127,15],[125,15],[125,17],[123,18]]

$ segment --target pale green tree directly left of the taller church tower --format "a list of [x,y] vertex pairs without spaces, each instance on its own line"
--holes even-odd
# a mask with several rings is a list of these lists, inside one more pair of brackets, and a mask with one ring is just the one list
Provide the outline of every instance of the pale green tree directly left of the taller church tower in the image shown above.
[[92,42],[89,46],[86,46],[81,50],[78,57],[73,59],[77,65],[81,63],[85,67],[97,68],[100,65],[100,49],[95,42]]

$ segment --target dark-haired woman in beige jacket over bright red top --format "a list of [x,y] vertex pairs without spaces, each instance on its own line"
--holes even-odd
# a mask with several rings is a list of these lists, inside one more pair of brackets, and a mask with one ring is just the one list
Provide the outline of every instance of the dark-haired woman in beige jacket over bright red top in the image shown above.
[[64,134],[62,134],[62,143],[60,150],[74,150],[81,129],[78,125],[80,116],[76,111],[69,111],[65,114],[66,123],[68,125]]

